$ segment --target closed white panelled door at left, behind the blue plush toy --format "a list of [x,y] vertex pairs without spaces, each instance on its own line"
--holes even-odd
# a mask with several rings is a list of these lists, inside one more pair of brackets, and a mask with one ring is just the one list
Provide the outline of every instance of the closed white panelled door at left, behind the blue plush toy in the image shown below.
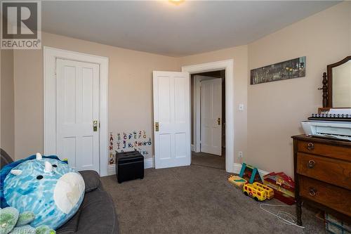
[[77,170],[99,171],[99,65],[56,59],[56,144]]

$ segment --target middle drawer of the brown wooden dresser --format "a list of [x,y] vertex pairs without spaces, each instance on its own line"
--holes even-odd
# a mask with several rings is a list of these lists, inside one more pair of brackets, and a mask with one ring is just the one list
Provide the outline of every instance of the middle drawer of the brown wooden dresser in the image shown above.
[[351,190],[351,162],[298,152],[297,173]]

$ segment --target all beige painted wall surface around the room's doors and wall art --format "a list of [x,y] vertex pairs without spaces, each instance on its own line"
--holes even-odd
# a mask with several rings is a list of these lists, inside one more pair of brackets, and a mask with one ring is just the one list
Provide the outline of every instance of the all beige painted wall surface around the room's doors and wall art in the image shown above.
[[[183,58],[158,56],[43,34],[45,46],[110,58],[109,131],[145,129],[152,134],[152,70],[234,59],[234,162],[293,175],[291,136],[300,121],[322,106],[322,72],[351,54],[351,2],[296,22],[249,45]],[[249,70],[306,56],[306,77],[249,84]],[[16,158],[43,150],[42,51],[15,51]],[[244,111],[238,110],[239,103]]]

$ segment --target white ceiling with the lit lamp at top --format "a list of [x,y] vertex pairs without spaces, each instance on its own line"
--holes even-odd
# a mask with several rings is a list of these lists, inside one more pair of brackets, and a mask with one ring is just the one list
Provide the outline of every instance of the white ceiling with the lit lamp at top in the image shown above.
[[[249,44],[338,1],[43,1],[45,32],[166,56]],[[322,27],[322,25],[321,25]],[[296,32],[301,34],[303,32]]]

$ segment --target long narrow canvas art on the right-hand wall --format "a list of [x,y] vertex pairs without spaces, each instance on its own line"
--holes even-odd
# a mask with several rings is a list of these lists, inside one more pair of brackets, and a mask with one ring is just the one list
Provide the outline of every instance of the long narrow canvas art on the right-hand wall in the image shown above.
[[306,57],[294,58],[281,63],[251,70],[251,84],[275,82],[283,79],[305,77]]

